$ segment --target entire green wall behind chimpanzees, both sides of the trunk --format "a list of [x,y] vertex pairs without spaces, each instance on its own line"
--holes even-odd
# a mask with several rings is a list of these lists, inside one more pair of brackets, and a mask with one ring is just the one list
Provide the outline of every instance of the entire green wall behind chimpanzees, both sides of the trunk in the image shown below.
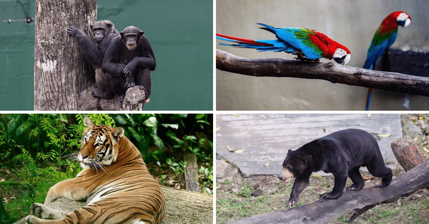
[[[34,17],[34,0],[21,3]],[[151,43],[157,67],[145,111],[213,110],[212,0],[100,0],[97,11]],[[0,21],[9,18],[25,18],[16,0],[0,1]],[[33,110],[34,23],[0,22],[0,43],[0,110]]]

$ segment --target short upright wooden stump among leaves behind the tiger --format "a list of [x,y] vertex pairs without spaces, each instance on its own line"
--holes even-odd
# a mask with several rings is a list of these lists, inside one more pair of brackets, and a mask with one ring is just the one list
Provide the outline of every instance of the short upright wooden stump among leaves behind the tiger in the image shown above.
[[196,156],[193,153],[185,152],[183,160],[186,162],[185,167],[185,184],[188,191],[199,191],[198,184],[198,165]]

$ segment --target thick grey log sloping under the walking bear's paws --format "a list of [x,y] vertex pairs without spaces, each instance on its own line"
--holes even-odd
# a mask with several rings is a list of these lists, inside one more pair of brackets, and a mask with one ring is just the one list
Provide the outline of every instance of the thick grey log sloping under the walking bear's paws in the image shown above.
[[268,212],[242,218],[228,224],[325,224],[353,210],[365,209],[366,206],[373,207],[382,203],[392,203],[401,197],[408,197],[419,189],[427,188],[429,187],[428,175],[429,161],[425,161],[393,179],[390,185],[385,188],[374,186],[363,188],[360,191],[345,191],[337,200],[320,199],[293,209]]

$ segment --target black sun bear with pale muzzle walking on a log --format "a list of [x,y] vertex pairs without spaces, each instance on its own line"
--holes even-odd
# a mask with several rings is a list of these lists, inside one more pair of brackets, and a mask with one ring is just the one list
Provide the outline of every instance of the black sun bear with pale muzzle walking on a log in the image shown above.
[[338,199],[343,194],[347,176],[353,184],[346,191],[359,191],[365,185],[360,167],[367,167],[372,176],[382,178],[383,187],[392,181],[392,170],[385,166],[377,140],[360,129],[336,131],[294,151],[289,149],[278,174],[278,179],[285,183],[295,178],[286,207],[291,208],[298,202],[299,193],[307,187],[311,173],[319,170],[335,177],[332,191],[320,194],[320,198]]

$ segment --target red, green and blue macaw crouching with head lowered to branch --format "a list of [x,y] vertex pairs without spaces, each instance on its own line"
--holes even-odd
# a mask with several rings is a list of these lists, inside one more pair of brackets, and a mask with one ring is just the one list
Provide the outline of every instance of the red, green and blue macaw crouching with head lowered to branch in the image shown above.
[[319,61],[319,58],[324,57],[329,60],[333,59],[336,63],[341,65],[347,64],[350,60],[350,51],[346,47],[316,30],[296,27],[275,28],[266,24],[258,24],[263,26],[260,27],[260,29],[274,33],[277,39],[241,39],[219,33],[216,33],[216,39],[236,42],[236,44],[221,43],[221,45],[254,48],[259,51],[284,51],[297,55],[297,59],[299,60]]

